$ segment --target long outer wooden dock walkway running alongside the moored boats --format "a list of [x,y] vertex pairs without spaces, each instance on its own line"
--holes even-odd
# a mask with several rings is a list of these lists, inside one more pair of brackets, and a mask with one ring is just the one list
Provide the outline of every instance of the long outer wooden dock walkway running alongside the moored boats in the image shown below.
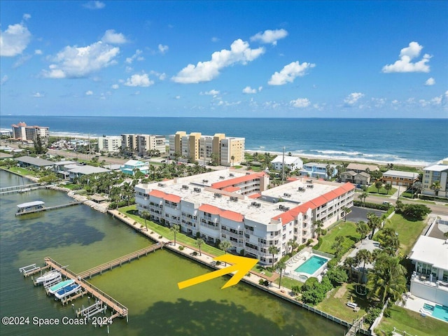
[[[57,269],[59,272],[61,272],[64,276],[66,276],[69,279],[73,279],[76,283],[79,283],[80,286],[83,288],[81,290],[80,295],[90,294],[92,297],[96,297],[98,300],[101,300],[104,302],[104,304],[107,304],[107,306],[115,312],[111,318],[114,317],[124,317],[127,316],[128,309],[123,304],[115,300],[110,295],[107,295],[99,288],[92,285],[92,283],[89,283],[85,281],[85,279],[82,279],[80,276],[77,276],[75,273],[71,272],[70,269],[64,268],[59,262],[56,262],[55,260],[52,260],[52,258],[45,258],[45,264],[49,267],[52,267],[53,269]],[[64,302],[69,302],[69,298],[64,300]]]

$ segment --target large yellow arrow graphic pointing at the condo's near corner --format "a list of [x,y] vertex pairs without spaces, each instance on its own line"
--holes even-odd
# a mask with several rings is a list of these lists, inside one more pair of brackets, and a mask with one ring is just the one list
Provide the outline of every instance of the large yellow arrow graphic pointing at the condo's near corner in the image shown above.
[[256,259],[239,257],[232,254],[221,255],[214,258],[214,260],[230,262],[234,265],[222,269],[217,269],[216,271],[210,272],[209,274],[196,276],[195,278],[188,279],[186,281],[178,282],[177,286],[179,286],[179,289],[197,285],[197,283],[209,281],[211,279],[218,278],[219,276],[236,272],[235,274],[233,274],[232,278],[230,278],[230,280],[227,281],[223,287],[221,287],[221,289],[228,288],[230,286],[236,285],[241,279],[243,279],[243,276],[246,275],[247,272],[249,272],[249,270],[251,270],[251,268],[258,262],[258,260]]

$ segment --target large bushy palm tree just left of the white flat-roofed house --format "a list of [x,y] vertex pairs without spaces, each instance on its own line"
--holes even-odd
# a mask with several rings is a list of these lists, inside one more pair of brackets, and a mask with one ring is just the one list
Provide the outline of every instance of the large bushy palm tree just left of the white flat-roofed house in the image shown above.
[[369,296],[376,295],[383,304],[388,299],[395,302],[407,290],[405,274],[406,268],[400,265],[399,258],[381,255],[369,274],[372,286]]

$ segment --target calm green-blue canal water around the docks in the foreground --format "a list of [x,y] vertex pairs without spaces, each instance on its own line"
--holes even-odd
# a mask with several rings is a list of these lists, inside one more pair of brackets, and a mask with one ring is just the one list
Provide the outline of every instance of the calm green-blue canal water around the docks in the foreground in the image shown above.
[[[0,187],[22,179],[0,171]],[[73,317],[73,308],[55,302],[24,279],[19,267],[43,265],[50,256],[80,272],[151,243],[126,225],[84,205],[16,218],[16,205],[43,200],[70,202],[64,193],[34,190],[0,198],[0,315],[29,316],[29,325],[1,325],[1,335],[107,335],[92,325],[32,325],[40,318]],[[129,323],[116,318],[109,335],[343,335],[344,328],[299,307],[239,283],[221,290],[225,278],[179,290],[177,283],[210,272],[176,253],[157,251],[95,276],[91,282],[130,310]],[[73,302],[78,309],[87,297]],[[107,314],[111,314],[110,311]]]

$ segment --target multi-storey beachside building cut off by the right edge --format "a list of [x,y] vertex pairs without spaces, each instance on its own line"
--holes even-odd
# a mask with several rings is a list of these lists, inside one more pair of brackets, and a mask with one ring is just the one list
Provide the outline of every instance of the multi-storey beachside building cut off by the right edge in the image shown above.
[[423,195],[448,197],[448,158],[425,167],[422,183]]

